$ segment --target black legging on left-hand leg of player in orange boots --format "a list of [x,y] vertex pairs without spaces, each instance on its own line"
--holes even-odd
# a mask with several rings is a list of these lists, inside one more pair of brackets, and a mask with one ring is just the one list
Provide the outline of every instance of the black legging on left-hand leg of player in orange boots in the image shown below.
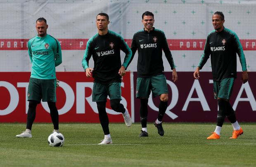
[[218,99],[218,106],[219,106],[219,111],[217,115],[217,126],[222,127],[226,113],[227,113],[227,103],[228,101]]

